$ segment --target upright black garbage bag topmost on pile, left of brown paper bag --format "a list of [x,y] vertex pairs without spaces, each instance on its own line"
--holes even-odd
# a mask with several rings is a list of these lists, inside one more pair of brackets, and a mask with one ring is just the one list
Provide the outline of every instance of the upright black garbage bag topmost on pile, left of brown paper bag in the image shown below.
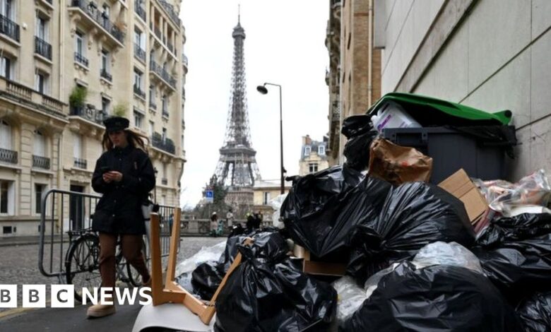
[[352,115],[343,120],[341,132],[348,138],[343,154],[345,165],[353,170],[365,170],[369,165],[369,146],[379,132],[373,128],[368,115]]

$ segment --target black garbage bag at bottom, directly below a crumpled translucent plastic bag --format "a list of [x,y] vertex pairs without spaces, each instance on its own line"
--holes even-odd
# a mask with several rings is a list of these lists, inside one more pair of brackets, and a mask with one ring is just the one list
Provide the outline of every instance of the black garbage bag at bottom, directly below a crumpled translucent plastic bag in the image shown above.
[[340,328],[354,331],[521,332],[519,319],[484,275],[458,266],[403,262]]

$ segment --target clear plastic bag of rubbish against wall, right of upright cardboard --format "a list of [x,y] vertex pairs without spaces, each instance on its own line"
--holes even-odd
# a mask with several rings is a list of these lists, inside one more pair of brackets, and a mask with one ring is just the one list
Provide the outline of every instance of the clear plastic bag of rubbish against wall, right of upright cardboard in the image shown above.
[[551,198],[551,186],[544,170],[533,172],[515,184],[504,180],[474,181],[490,202],[490,208],[506,217],[522,206],[547,206]]

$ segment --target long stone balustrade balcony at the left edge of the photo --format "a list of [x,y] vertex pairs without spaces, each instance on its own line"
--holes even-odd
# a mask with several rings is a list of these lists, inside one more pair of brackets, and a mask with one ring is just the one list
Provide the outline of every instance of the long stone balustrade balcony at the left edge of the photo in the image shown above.
[[55,117],[65,119],[65,115],[63,114],[63,102],[1,76],[0,95],[19,102],[30,109],[40,109],[42,112],[47,112]]

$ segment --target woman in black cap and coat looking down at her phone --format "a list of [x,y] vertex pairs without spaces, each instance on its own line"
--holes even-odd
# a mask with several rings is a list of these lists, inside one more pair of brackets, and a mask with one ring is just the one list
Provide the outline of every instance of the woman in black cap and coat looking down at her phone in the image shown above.
[[[142,280],[150,274],[142,254],[142,237],[146,234],[141,205],[155,187],[155,172],[146,152],[143,138],[129,131],[129,120],[110,117],[103,121],[105,152],[95,164],[92,186],[103,194],[93,216],[92,230],[100,234],[100,273],[102,287],[115,285],[115,249],[121,237],[122,253],[140,273]],[[88,317],[114,314],[114,305],[96,304],[88,308]]]

